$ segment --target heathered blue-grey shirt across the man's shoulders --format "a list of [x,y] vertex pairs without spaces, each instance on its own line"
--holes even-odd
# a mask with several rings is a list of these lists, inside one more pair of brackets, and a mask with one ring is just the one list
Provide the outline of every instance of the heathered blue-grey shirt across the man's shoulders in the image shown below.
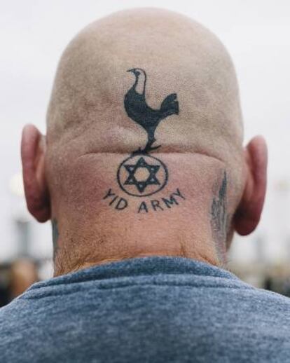
[[0,309],[4,362],[290,362],[290,300],[179,257],[38,282]]

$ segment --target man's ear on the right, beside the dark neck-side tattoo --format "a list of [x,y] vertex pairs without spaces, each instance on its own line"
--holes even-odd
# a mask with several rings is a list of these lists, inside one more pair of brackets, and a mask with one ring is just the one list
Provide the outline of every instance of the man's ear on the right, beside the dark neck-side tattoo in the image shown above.
[[248,235],[258,225],[263,210],[267,185],[267,146],[261,136],[254,137],[245,151],[247,166],[244,193],[234,217],[235,231]]

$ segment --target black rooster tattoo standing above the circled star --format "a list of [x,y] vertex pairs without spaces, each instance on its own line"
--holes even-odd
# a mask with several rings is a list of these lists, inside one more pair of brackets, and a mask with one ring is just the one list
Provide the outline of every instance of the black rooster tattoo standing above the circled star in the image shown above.
[[147,132],[148,141],[145,148],[139,148],[135,153],[149,153],[158,149],[161,145],[153,146],[156,142],[155,132],[160,121],[170,115],[179,114],[179,103],[177,94],[172,93],[163,100],[160,109],[151,109],[146,103],[146,72],[143,69],[133,68],[128,72],[132,72],[135,76],[135,83],[125,95],[124,106],[127,115],[136,123],[139,123]]

